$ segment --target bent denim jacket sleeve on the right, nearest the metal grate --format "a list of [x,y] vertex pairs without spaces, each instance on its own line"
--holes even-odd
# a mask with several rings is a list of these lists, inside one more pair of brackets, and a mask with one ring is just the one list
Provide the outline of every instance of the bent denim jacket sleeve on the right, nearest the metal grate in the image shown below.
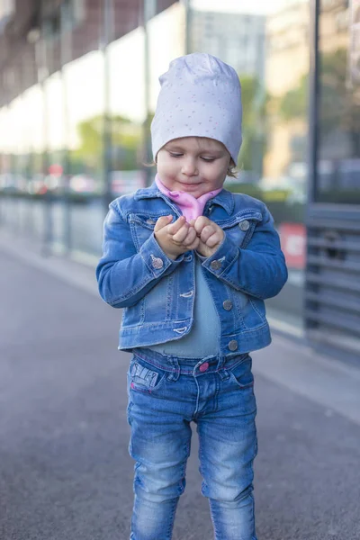
[[212,275],[242,293],[261,300],[280,293],[287,281],[287,268],[274,220],[265,213],[246,248],[238,247],[225,234],[220,247],[203,260]]

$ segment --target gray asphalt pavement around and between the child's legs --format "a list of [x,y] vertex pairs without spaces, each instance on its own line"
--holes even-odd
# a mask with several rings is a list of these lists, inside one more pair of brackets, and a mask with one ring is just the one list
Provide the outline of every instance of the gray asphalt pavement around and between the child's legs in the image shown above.
[[[0,539],[127,540],[120,312],[92,268],[0,234]],[[360,373],[275,336],[254,355],[259,540],[360,539]],[[213,537],[193,437],[174,540]]]

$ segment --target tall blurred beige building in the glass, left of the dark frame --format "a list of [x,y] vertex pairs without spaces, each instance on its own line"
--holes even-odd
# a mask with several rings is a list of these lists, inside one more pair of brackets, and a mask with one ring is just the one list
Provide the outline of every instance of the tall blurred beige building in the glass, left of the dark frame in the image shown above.
[[[307,86],[309,74],[310,10],[308,2],[286,4],[266,23],[266,89],[272,100],[269,121],[272,137],[265,157],[265,175],[277,178],[292,175],[289,165],[306,161],[308,119]],[[303,87],[302,103],[297,111],[286,114],[287,96]],[[299,105],[302,105],[302,110]],[[291,113],[293,114],[291,115]],[[305,182],[304,167],[302,179]]]

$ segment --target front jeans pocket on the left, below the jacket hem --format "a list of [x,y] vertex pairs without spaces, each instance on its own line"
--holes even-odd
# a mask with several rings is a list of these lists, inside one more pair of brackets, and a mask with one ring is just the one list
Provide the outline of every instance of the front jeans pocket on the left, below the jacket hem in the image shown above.
[[151,393],[157,391],[166,380],[166,372],[149,364],[139,356],[133,356],[129,367],[130,390]]

